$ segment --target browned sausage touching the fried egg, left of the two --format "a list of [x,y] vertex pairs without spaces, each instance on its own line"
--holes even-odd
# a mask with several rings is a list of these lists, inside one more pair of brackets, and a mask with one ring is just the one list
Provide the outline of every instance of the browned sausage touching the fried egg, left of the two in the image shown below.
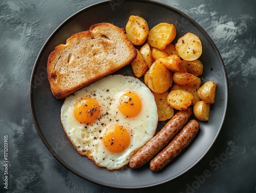
[[181,130],[192,113],[191,107],[186,111],[176,113],[156,136],[131,157],[129,160],[130,167],[138,168],[150,161]]

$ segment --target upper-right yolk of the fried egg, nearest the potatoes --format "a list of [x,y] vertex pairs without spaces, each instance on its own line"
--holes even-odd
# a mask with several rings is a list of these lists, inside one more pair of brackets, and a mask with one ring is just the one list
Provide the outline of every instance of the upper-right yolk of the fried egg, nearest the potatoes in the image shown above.
[[137,116],[141,111],[140,97],[134,92],[127,92],[119,99],[119,111],[128,118]]

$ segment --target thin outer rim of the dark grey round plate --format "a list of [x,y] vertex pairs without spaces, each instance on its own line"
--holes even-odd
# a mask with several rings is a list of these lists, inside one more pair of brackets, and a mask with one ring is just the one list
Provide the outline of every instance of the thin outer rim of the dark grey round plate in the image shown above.
[[[82,179],[85,179],[89,182],[93,182],[95,184],[98,184],[98,185],[102,185],[102,186],[105,186],[105,187],[112,187],[112,188],[120,188],[120,189],[138,189],[138,188],[147,188],[147,187],[153,187],[153,186],[157,186],[157,185],[161,185],[161,184],[164,184],[164,183],[167,183],[169,181],[172,181],[178,177],[180,177],[181,175],[184,175],[188,170],[190,170],[191,168],[193,168],[195,165],[197,165],[204,157],[205,155],[208,153],[209,149],[212,147],[212,145],[216,142],[216,139],[218,138],[219,134],[220,134],[220,131],[223,127],[223,123],[224,123],[224,120],[225,120],[225,117],[226,117],[226,113],[227,113],[227,104],[228,104],[228,98],[229,98],[229,94],[228,94],[228,77],[227,77],[227,72],[226,72],[226,68],[225,68],[225,65],[224,65],[224,61],[222,59],[222,56],[217,48],[217,46],[215,45],[215,42],[211,39],[211,37],[207,34],[207,32],[193,19],[191,18],[190,16],[188,16],[187,14],[185,14],[184,12],[178,10],[177,8],[174,8],[170,5],[167,5],[167,4],[164,4],[164,3],[161,3],[161,2],[157,2],[157,1],[153,1],[153,0],[140,0],[140,1],[133,1],[135,3],[139,3],[139,2],[143,2],[143,3],[149,3],[149,4],[154,4],[154,5],[157,5],[157,6],[161,6],[161,7],[164,7],[164,8],[167,8],[169,10],[172,10],[172,11],[175,11],[177,12],[178,14],[182,15],[183,17],[187,18],[191,23],[193,23],[193,25],[196,26],[196,28],[198,28],[203,34],[204,36],[207,38],[207,40],[210,42],[210,45],[214,47],[214,50],[216,51],[217,55],[218,55],[218,59],[221,61],[221,65],[222,65],[222,70],[224,71],[224,76],[225,76],[225,90],[224,90],[224,95],[226,96],[226,100],[225,100],[225,108],[224,108],[224,113],[223,113],[223,116],[222,116],[222,119],[221,119],[221,123],[220,123],[220,128],[217,132],[217,135],[214,137],[214,140],[209,144],[209,147],[207,148],[207,151],[201,156],[200,159],[198,159],[197,162],[195,162],[194,164],[192,164],[190,167],[188,167],[186,170],[184,170],[182,173],[180,173],[179,175],[177,175],[176,177],[174,178],[171,178],[171,179],[168,179],[168,180],[165,180],[165,181],[162,181],[161,183],[154,183],[154,184],[151,184],[151,185],[144,185],[144,186],[136,186],[136,187],[122,187],[122,186],[114,186],[114,185],[106,185],[104,184],[103,182],[102,183],[99,183],[99,182],[96,182],[95,180],[92,180],[92,179],[89,179],[89,178],[86,178],[80,174],[78,174],[76,171],[74,171],[69,165],[67,165],[66,163],[63,162],[62,159],[60,159],[58,157],[58,155],[56,155],[52,149],[52,147],[49,145],[49,143],[47,142],[46,138],[44,137],[44,135],[42,134],[41,130],[40,130],[40,126],[38,124],[38,121],[37,121],[37,118],[36,118],[36,115],[35,115],[35,109],[34,109],[34,99],[33,99],[33,80],[34,80],[34,74],[39,66],[39,60],[42,56],[42,52],[45,50],[45,48],[47,47],[47,45],[49,44],[49,41],[50,39],[52,39],[52,37],[54,37],[54,35],[70,20],[72,19],[74,16],[76,16],[77,14],[79,13],[82,13],[84,11],[86,11],[87,9],[90,9],[90,8],[94,8],[96,6],[100,6],[100,5],[103,5],[103,4],[106,4],[106,3],[109,3],[111,1],[108,1],[108,0],[105,0],[105,1],[102,1],[102,2],[98,2],[98,3],[95,3],[95,4],[92,4],[92,5],[89,5],[87,7],[84,7],[78,11],[76,11],[75,13],[73,13],[72,15],[70,15],[68,18],[66,18],[65,20],[63,20],[63,22],[61,22],[57,28],[50,34],[50,36],[46,39],[46,41],[44,42],[44,45],[42,46],[42,48],[40,49],[37,57],[36,57],[36,60],[35,60],[35,63],[34,63],[34,66],[33,66],[33,70],[32,70],[32,73],[31,73],[31,77],[30,77],[30,89],[29,89],[29,103],[30,103],[30,112],[31,112],[31,116],[32,116],[32,119],[33,119],[33,122],[34,122],[34,125],[35,125],[35,128],[36,128],[36,131],[38,133],[38,135],[40,136],[42,142],[45,144],[45,146],[48,148],[48,150],[50,151],[50,153],[55,157],[56,160],[58,160],[59,163],[61,163],[63,166],[65,166],[68,170],[72,171],[72,173],[74,173],[75,175],[81,177]],[[129,1],[129,3],[131,3],[132,1]]]

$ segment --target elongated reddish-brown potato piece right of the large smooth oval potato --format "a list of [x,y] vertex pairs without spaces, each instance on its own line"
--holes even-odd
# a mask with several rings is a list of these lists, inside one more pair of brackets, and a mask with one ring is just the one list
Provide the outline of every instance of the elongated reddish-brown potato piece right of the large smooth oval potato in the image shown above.
[[176,72],[173,75],[173,81],[176,84],[187,86],[187,87],[195,87],[199,89],[201,85],[201,79],[193,74],[188,72]]

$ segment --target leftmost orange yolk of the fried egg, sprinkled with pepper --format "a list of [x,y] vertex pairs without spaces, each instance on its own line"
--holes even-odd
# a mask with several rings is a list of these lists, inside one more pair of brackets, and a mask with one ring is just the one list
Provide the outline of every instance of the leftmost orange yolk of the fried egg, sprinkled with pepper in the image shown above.
[[100,113],[99,103],[92,98],[84,98],[76,101],[74,115],[77,121],[83,124],[94,122]]

